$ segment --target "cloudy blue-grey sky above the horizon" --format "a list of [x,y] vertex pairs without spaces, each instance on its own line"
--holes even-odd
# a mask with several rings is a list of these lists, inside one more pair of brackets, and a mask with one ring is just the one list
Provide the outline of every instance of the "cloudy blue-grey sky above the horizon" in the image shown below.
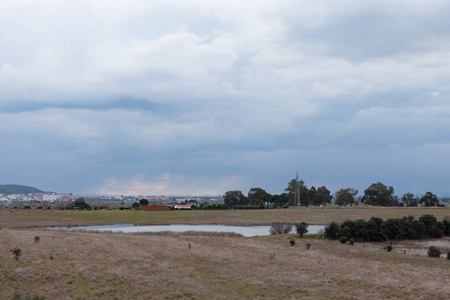
[[0,184],[450,196],[447,0],[0,0]]

